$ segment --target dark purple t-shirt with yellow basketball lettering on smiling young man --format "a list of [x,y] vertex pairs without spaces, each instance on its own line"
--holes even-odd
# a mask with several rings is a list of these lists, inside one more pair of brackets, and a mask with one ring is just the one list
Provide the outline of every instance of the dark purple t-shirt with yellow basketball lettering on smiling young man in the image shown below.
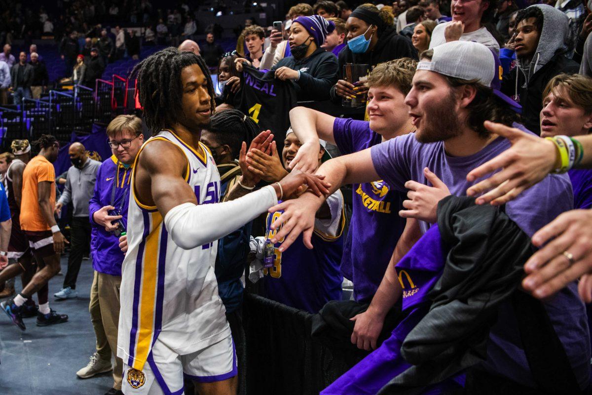
[[[344,155],[382,142],[380,134],[370,130],[369,122],[335,118],[333,138]],[[353,282],[353,297],[369,303],[376,293],[388,262],[405,229],[406,219],[398,211],[406,194],[394,191],[387,182],[352,185],[352,219],[343,247],[341,272]]]

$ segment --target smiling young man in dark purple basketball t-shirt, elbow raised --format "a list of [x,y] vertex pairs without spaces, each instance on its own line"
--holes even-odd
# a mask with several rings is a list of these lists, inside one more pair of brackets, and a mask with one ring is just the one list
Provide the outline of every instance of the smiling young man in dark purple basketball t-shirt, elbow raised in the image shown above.
[[[411,89],[416,64],[411,59],[392,60],[378,65],[370,73],[369,121],[335,118],[304,107],[292,109],[292,129],[303,142],[294,162],[305,166],[305,171],[314,171],[315,163],[311,162],[307,167],[304,162],[308,158],[301,152],[318,150],[319,138],[336,144],[341,153],[350,154],[413,131],[415,128],[404,99]],[[387,182],[378,178],[352,185],[352,218],[340,269],[343,277],[353,282],[353,296],[358,303],[372,301],[381,281],[388,282],[388,278],[382,279],[391,257],[396,264],[412,245],[403,248],[401,244],[397,249],[399,255],[395,253],[393,256],[395,246],[406,229],[406,219],[398,214],[405,199],[406,192],[392,190]],[[419,227],[416,221],[412,221],[415,226],[408,226],[403,240],[409,238],[414,242],[419,238]],[[394,277],[396,275],[391,280],[397,281]],[[384,315],[392,307],[392,303],[382,305],[380,309],[375,305],[372,303],[365,313],[355,317],[352,342],[359,348],[376,348]],[[377,323],[380,325],[377,326]]]

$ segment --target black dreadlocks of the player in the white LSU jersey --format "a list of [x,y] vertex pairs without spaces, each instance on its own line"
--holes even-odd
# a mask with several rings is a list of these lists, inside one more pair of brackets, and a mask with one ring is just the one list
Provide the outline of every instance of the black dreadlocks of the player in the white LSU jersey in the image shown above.
[[144,108],[144,121],[152,134],[171,127],[181,117],[183,86],[181,70],[198,65],[208,81],[210,108],[215,111],[215,91],[210,70],[201,56],[181,52],[175,47],[165,48],[138,63],[131,70],[139,87],[138,98]]

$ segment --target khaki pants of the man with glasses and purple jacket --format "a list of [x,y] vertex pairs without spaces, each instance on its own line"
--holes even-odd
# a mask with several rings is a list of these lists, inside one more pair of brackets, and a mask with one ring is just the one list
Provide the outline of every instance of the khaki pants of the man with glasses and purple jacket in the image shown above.
[[110,361],[115,357],[113,367],[113,387],[121,390],[123,361],[117,357],[117,327],[119,325],[119,288],[121,277],[95,271],[91,287],[91,322],[95,329],[96,352],[99,358]]

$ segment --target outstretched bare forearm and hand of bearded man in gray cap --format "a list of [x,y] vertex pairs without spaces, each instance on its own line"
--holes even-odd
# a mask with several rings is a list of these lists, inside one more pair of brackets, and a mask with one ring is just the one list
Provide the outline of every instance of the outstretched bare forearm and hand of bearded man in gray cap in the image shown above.
[[[294,173],[294,170],[292,173]],[[344,184],[371,182],[380,179],[372,163],[370,149],[327,160],[318,168],[317,175],[323,175],[325,177],[324,181],[331,185],[329,194],[333,194]],[[310,240],[314,230],[314,217],[324,200],[325,197],[306,192],[295,200],[282,202],[269,209],[270,213],[284,211],[271,226],[275,230],[279,229],[283,224],[282,229],[272,239],[272,242],[276,243],[282,237],[285,237],[284,242],[279,246],[279,251],[284,252],[300,233],[304,233],[304,245],[307,248],[313,248]]]

